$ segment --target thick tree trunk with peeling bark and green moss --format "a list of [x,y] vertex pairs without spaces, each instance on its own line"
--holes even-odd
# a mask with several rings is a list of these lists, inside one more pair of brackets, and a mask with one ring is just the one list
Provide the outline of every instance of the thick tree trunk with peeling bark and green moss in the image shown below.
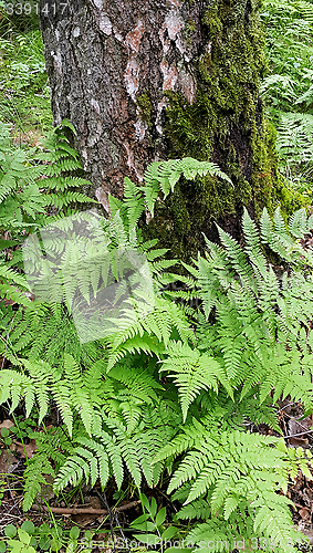
[[[64,0],[65,2],[65,0]],[[55,124],[73,123],[87,177],[106,206],[150,161],[212,160],[234,187],[181,182],[148,233],[182,255],[212,221],[239,229],[278,191],[274,140],[259,98],[258,0],[40,0]],[[56,7],[56,8],[55,8]]]

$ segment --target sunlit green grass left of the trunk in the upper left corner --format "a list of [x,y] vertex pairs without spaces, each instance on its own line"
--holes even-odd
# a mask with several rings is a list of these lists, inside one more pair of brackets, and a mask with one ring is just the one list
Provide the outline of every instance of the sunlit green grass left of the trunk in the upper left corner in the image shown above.
[[[33,0],[31,3],[34,12]],[[20,8],[30,7],[31,3],[27,2]],[[50,129],[52,114],[38,23],[33,29],[28,28],[22,32],[19,20],[28,24],[31,17],[22,18],[15,12],[9,17],[0,6],[1,117],[4,123],[14,125],[18,139],[23,143],[35,142],[40,131]],[[36,131],[33,131],[34,127]]]

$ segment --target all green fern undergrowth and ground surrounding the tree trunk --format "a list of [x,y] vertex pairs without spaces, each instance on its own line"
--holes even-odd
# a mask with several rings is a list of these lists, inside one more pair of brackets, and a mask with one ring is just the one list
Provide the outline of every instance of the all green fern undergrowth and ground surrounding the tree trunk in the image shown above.
[[[73,127],[52,129],[35,19],[0,13],[0,553],[309,551],[312,211],[244,210],[242,243],[218,228],[170,260],[139,219],[181,176],[231,186],[186,158],[126,178],[105,219]],[[281,171],[310,206],[313,3],[261,18]]]

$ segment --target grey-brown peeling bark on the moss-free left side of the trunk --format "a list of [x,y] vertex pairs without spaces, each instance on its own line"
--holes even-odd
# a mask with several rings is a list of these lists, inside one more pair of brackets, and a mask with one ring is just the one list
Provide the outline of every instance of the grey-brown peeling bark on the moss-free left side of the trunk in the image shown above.
[[[127,175],[167,156],[165,91],[195,102],[195,63],[209,49],[201,24],[209,1],[69,0],[56,13],[40,1],[55,124],[77,131],[84,169],[96,188],[123,196]],[[192,22],[191,34],[186,24]],[[137,98],[150,101],[150,122]]]

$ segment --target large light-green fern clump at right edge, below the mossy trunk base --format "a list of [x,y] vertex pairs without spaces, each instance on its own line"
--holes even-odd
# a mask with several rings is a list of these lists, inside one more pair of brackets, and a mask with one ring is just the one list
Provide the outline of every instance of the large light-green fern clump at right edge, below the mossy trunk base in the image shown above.
[[[289,233],[279,210],[272,222],[264,209],[259,233],[244,211],[243,249],[219,228],[222,246],[207,240],[208,253],[199,257],[197,269],[185,265],[195,275],[202,300],[196,328],[198,348],[196,354],[189,353],[192,378],[188,378],[188,392],[181,346],[165,362],[165,367],[175,367],[176,382],[182,386],[185,413],[191,398],[207,386],[213,387],[216,378],[230,394],[240,387],[241,399],[253,389],[262,404],[274,389],[273,403],[291,396],[312,409],[313,255],[294,238],[309,232],[312,222],[300,210],[291,218]],[[285,261],[289,271],[275,273],[263,244]]]

